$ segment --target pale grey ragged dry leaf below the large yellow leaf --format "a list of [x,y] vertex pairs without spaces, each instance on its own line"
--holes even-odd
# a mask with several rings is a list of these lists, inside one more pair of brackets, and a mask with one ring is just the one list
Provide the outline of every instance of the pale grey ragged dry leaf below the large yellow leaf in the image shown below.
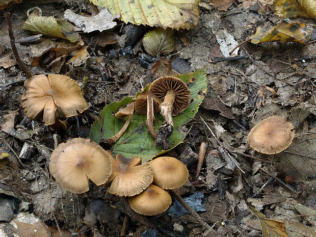
[[77,27],[81,28],[83,32],[89,33],[92,31],[105,31],[112,29],[117,24],[114,19],[120,15],[112,16],[108,9],[103,8],[96,16],[81,16],[75,14],[73,11],[67,9],[64,18],[74,23]]

